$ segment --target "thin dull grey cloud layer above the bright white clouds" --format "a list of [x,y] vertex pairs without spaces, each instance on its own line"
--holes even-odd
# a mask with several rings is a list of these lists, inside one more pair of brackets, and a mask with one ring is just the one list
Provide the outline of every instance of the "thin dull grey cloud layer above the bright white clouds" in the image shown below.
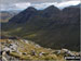
[[19,2],[32,2],[32,3],[40,3],[40,2],[62,2],[62,1],[69,1],[69,0],[1,0],[0,4],[11,4],[11,3],[19,3]]

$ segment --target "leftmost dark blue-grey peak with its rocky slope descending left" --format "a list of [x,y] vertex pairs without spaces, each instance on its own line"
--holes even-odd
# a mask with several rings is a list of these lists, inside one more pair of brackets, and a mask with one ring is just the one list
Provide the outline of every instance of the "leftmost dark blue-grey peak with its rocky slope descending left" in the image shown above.
[[[37,14],[37,10],[35,8],[28,8],[25,11],[21,12],[19,14],[12,17],[9,22],[15,22],[15,23],[25,23],[27,22],[32,15]],[[18,19],[17,19],[18,17]]]

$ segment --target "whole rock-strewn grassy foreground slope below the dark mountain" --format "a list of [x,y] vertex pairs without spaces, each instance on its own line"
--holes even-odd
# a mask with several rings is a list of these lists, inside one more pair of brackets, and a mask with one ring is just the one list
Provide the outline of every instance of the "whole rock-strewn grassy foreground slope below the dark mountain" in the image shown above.
[[[0,58],[3,60],[53,60],[65,61],[65,56],[79,56],[68,49],[43,48],[26,39],[0,39]],[[1,54],[2,52],[2,54]],[[0,59],[1,60],[1,59]]]

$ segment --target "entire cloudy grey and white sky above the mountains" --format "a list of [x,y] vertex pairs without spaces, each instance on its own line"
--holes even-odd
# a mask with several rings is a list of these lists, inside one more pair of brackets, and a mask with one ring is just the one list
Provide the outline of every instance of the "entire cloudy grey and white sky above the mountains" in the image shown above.
[[1,10],[24,10],[28,7],[44,9],[56,5],[59,9],[79,4],[80,0],[0,0]]

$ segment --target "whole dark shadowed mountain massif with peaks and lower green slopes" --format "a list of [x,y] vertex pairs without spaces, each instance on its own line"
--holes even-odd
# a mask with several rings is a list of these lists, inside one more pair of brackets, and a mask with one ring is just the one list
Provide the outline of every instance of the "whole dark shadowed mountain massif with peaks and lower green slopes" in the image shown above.
[[[8,28],[8,29],[6,29]],[[27,38],[43,47],[78,50],[80,46],[80,8],[68,7],[63,10],[49,7],[38,11],[28,8],[2,24],[6,35]]]

